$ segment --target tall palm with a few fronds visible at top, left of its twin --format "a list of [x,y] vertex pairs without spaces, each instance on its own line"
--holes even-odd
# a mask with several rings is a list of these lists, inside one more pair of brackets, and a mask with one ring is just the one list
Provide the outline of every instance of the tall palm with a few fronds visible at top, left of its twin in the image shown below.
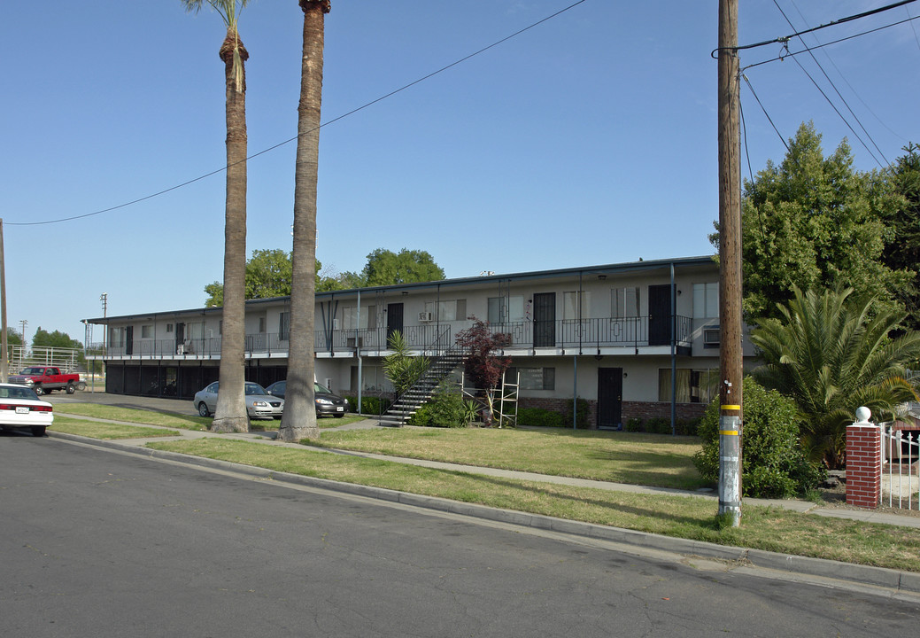
[[227,168],[224,210],[224,324],[221,339],[220,392],[211,429],[247,432],[246,382],[246,67],[249,53],[239,39],[236,20],[247,0],[181,0],[187,11],[207,2],[227,28],[220,56],[226,81]]

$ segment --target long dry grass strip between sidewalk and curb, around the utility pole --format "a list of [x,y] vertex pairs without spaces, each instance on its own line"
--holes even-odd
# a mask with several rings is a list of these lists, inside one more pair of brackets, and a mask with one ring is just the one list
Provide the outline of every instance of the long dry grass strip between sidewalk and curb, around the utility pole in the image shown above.
[[920,534],[911,528],[753,505],[745,507],[740,528],[719,528],[711,499],[516,481],[217,438],[148,447],[615,528],[920,572]]

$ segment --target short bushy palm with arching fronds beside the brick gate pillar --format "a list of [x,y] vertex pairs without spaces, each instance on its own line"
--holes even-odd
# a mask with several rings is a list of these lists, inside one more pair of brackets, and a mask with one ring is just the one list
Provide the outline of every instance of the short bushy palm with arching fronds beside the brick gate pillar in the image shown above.
[[851,299],[852,289],[793,292],[788,306],[778,306],[782,319],[763,319],[751,332],[765,360],[753,376],[796,401],[802,446],[833,469],[844,460],[845,427],[859,406],[887,420],[917,400],[907,366],[920,357],[920,332],[892,338],[903,313]]

